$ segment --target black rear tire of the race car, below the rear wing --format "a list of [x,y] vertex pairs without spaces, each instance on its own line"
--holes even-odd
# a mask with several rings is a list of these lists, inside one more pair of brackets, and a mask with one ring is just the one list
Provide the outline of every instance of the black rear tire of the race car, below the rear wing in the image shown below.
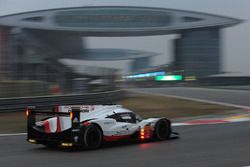
[[83,145],[85,148],[94,150],[102,145],[102,130],[95,124],[88,125],[83,134]]

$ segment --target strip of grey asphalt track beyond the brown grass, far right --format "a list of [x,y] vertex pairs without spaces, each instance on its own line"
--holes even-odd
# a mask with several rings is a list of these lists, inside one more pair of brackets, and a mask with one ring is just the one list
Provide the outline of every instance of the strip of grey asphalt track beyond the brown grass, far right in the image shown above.
[[246,90],[224,90],[190,87],[169,87],[169,88],[137,88],[132,91],[160,94],[178,98],[186,98],[196,101],[224,103],[239,106],[240,108],[250,107],[250,91]]

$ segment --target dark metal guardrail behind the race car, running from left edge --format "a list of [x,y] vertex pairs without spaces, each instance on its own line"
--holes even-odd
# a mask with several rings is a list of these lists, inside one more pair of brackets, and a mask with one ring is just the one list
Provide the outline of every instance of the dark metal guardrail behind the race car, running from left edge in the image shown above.
[[22,97],[0,99],[0,112],[23,111],[27,106],[49,109],[56,105],[113,104],[123,98],[124,91],[108,91],[88,94]]

